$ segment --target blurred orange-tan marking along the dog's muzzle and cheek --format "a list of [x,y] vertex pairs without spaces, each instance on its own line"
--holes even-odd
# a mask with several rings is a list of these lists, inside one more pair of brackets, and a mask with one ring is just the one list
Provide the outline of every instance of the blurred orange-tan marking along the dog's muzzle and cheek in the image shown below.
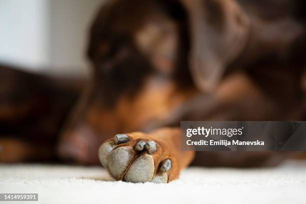
[[170,110],[193,94],[194,90],[181,91],[169,80],[152,77],[134,97],[121,96],[112,110],[89,107],[86,118],[90,126],[104,134],[134,131],[149,121],[165,118]]

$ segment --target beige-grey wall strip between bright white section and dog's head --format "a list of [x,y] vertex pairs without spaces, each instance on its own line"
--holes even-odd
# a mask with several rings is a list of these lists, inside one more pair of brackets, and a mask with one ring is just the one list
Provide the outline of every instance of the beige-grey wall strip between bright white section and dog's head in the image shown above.
[[101,0],[50,0],[49,59],[54,71],[86,71],[88,28],[100,5]]

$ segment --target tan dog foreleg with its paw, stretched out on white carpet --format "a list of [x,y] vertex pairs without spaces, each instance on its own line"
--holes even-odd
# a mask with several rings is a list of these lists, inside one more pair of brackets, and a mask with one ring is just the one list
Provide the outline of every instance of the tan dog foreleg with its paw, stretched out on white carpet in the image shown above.
[[99,148],[99,159],[116,180],[166,183],[192,160],[193,151],[180,151],[179,128],[149,134],[117,134]]

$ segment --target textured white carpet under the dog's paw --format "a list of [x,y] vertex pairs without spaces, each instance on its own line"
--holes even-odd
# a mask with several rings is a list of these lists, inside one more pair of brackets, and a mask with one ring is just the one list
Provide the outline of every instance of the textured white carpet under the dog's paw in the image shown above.
[[[92,179],[99,177],[102,180]],[[105,181],[106,180],[106,181]],[[111,181],[102,167],[0,164],[0,193],[39,193],[24,203],[306,203],[306,162],[274,168],[184,170],[168,184]],[[0,203],[22,203],[1,202]]]

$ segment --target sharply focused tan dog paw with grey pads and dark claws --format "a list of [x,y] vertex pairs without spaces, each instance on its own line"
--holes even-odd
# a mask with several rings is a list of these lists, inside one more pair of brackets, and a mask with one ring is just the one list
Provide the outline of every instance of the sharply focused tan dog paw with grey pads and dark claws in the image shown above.
[[115,135],[99,147],[98,156],[116,180],[166,183],[176,176],[167,146],[141,132]]

